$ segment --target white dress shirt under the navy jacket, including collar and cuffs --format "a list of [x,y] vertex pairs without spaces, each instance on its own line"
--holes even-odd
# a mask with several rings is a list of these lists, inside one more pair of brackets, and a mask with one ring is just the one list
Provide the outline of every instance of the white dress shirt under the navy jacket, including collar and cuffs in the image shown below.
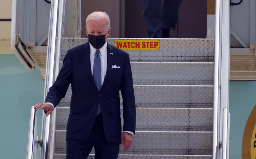
[[[89,45],[90,45],[91,72],[93,74],[94,57],[95,57],[95,52],[96,52],[97,49],[94,48],[91,45],[91,43],[89,43]],[[105,42],[105,44],[99,50],[100,50],[100,54],[99,55],[100,55],[101,85],[102,85],[103,82],[104,82],[104,78],[105,78],[106,72],[107,72],[107,42]],[[51,104],[53,106],[52,103],[50,103],[50,102],[47,102],[47,103]],[[124,132],[128,132],[128,133],[133,135],[133,132],[131,132],[131,131],[124,131]]]

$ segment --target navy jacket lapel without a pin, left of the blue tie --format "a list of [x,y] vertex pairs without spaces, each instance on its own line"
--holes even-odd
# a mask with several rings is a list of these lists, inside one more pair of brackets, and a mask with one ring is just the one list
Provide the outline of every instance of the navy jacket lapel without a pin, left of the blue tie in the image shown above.
[[83,50],[81,50],[81,56],[84,61],[84,66],[86,68],[87,73],[89,74],[89,77],[93,83],[93,85],[97,88],[95,81],[93,79],[93,74],[91,72],[91,60],[90,60],[90,46],[89,42],[85,43],[83,46]]

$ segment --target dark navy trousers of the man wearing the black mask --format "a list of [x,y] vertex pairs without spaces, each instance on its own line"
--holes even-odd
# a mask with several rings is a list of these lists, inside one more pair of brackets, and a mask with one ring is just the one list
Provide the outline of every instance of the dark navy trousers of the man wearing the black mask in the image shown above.
[[101,113],[96,116],[91,134],[86,141],[67,140],[66,159],[86,159],[93,146],[95,159],[116,159],[118,157],[119,144],[107,143],[105,139]]

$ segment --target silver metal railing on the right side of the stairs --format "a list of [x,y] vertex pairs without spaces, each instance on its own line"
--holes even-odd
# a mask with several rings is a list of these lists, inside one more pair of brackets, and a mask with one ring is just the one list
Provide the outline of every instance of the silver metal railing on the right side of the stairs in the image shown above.
[[[215,1],[213,159],[228,158],[230,1]],[[224,113],[223,113],[224,111]]]

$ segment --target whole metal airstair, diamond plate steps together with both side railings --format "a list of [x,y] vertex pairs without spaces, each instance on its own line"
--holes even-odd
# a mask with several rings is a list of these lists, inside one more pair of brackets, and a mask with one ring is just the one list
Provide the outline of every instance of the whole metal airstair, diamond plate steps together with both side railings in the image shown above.
[[[88,40],[62,38],[64,4],[65,0],[51,1],[44,99],[67,50]],[[159,39],[159,50],[127,51],[136,134],[127,153],[120,148],[119,158],[229,158],[230,1],[216,0],[215,5],[215,39]],[[115,40],[122,39],[107,41],[114,45]],[[48,117],[43,113],[40,139],[37,111],[31,107],[27,158],[36,158],[37,148],[40,158],[66,158],[70,99],[71,85],[53,113]],[[94,158],[93,153],[94,149],[89,158]]]

